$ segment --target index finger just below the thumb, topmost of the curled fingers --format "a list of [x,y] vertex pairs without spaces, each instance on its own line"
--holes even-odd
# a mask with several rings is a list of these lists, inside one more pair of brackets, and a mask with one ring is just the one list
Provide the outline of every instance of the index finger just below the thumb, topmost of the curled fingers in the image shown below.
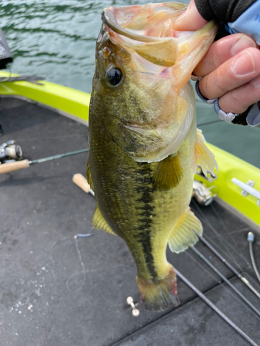
[[205,57],[196,66],[193,75],[208,75],[231,57],[250,47],[255,48],[257,44],[249,35],[234,34],[223,37],[211,45]]

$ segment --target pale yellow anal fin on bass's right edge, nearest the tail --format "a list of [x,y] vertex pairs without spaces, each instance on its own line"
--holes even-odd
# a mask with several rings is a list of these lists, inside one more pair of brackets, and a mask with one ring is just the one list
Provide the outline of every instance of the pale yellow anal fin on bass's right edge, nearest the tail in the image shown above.
[[189,246],[193,246],[198,237],[193,232],[195,230],[199,235],[202,235],[202,224],[200,220],[188,208],[186,212],[177,221],[175,228],[168,239],[168,246],[173,253],[180,253],[186,250]]

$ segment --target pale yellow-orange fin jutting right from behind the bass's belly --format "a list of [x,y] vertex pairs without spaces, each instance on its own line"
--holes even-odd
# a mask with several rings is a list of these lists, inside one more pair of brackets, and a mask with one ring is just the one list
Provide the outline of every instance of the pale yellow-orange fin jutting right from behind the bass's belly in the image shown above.
[[214,154],[205,145],[205,138],[202,135],[202,131],[197,129],[197,140],[194,153],[194,171],[196,172],[197,163],[199,161],[202,172],[206,175],[207,171],[211,172],[213,176],[216,176],[214,168],[218,171],[218,164],[216,163]]

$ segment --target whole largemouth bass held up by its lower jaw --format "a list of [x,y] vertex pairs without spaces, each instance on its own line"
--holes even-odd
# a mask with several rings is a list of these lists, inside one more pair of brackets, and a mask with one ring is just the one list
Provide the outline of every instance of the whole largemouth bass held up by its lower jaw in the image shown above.
[[137,264],[147,309],[177,304],[167,244],[179,253],[202,234],[189,210],[198,160],[214,174],[214,156],[196,131],[191,73],[216,35],[173,24],[182,3],[106,8],[96,42],[89,109],[87,179],[96,195],[93,225],[122,237]]

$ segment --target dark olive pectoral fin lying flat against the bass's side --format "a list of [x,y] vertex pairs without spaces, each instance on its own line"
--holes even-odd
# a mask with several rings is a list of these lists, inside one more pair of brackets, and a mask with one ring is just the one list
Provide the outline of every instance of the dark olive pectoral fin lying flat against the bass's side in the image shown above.
[[168,191],[175,188],[183,176],[179,157],[172,154],[160,161],[153,175],[153,188],[156,191]]

